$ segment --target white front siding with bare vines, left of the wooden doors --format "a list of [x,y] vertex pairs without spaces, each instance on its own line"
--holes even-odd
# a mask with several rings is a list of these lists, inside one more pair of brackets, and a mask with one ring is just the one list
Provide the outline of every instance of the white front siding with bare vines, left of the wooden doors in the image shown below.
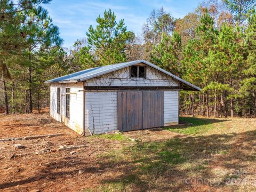
[[[89,117],[87,115],[89,110]],[[88,119],[89,118],[89,119]],[[91,133],[101,134],[117,130],[117,92],[85,93],[85,125]]]

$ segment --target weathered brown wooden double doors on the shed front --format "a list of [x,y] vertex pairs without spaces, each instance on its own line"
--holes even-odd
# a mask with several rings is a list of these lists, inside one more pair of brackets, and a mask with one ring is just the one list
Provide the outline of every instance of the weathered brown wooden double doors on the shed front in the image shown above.
[[117,92],[117,126],[133,131],[164,125],[163,91]]

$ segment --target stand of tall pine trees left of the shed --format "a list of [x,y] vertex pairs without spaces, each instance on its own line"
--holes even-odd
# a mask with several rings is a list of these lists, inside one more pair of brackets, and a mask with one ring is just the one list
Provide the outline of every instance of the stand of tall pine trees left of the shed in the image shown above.
[[[44,85],[54,57],[60,57],[59,29],[42,4],[49,0],[0,2],[0,72],[3,87],[0,103],[5,113],[31,113],[47,106]],[[3,99],[2,99],[3,98]],[[1,107],[1,105],[0,105]]]

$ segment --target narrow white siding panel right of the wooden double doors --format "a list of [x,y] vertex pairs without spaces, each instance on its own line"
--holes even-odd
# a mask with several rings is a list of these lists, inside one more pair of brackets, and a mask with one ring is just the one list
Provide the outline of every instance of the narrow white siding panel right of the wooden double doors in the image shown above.
[[179,91],[164,91],[164,125],[179,123]]

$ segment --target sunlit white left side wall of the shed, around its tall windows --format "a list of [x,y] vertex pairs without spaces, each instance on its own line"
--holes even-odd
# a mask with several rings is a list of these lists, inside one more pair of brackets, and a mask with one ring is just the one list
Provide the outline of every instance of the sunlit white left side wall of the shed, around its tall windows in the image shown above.
[[[60,87],[60,110],[61,113],[57,113],[57,88]],[[70,88],[70,117],[66,117],[66,88]],[[83,83],[54,83],[50,86],[51,90],[51,109],[50,115],[57,121],[62,121],[65,125],[73,129],[79,134],[83,132]]]

